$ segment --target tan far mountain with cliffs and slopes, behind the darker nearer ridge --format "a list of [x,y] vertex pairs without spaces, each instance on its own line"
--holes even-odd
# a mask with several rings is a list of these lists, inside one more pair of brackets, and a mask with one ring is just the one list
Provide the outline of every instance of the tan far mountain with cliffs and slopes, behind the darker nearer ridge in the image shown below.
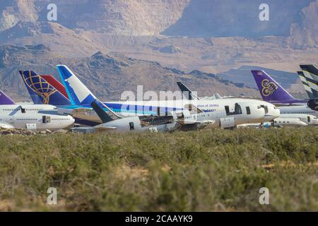
[[[45,55],[70,63],[96,52],[124,54],[225,80],[224,71],[244,65],[295,72],[301,63],[318,64],[318,0],[268,0],[266,22],[261,0],[55,0],[57,21],[48,21],[51,3],[1,0],[1,45],[42,44],[52,52]],[[31,59],[17,66],[37,61],[23,56]]]

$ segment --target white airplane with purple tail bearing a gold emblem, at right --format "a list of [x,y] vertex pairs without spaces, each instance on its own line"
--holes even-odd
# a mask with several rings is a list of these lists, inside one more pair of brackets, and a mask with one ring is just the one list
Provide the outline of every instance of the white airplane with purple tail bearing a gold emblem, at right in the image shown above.
[[312,114],[318,117],[318,112],[307,106],[308,100],[295,99],[264,71],[252,71],[252,74],[263,100],[276,105],[288,105],[277,107],[281,114]]

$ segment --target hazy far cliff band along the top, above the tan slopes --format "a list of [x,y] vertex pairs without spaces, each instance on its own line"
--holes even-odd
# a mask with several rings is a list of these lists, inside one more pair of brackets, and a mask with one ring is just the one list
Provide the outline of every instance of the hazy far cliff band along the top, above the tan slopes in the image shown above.
[[[2,0],[0,31],[20,22],[47,22],[47,0]],[[189,37],[295,36],[315,43],[317,0],[268,0],[269,21],[259,20],[262,0],[56,0],[57,23],[112,35]],[[309,34],[303,34],[310,30]]]

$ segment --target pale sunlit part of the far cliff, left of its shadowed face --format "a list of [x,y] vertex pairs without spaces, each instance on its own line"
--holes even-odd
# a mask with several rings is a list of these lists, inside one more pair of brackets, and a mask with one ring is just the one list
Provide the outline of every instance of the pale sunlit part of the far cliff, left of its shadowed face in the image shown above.
[[[66,28],[117,35],[158,35],[182,16],[190,0],[56,0],[58,21]],[[0,3],[0,30],[20,22],[47,21],[46,0]],[[0,9],[1,9],[0,8]]]

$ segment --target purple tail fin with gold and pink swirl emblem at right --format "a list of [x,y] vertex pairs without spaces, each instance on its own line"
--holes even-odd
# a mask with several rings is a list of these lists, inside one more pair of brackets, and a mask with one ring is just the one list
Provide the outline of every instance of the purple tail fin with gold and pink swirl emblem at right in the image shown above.
[[265,71],[252,71],[252,74],[264,101],[288,102],[296,100]]

